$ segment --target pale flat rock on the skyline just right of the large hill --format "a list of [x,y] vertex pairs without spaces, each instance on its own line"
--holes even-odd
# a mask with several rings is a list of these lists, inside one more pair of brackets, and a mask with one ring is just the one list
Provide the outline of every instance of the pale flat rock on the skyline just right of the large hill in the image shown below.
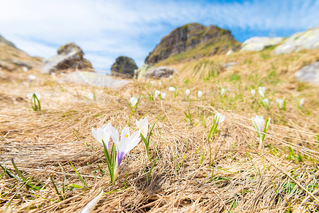
[[274,46],[282,42],[282,40],[283,38],[281,37],[251,37],[241,44],[242,48],[240,51],[261,51],[265,47]]

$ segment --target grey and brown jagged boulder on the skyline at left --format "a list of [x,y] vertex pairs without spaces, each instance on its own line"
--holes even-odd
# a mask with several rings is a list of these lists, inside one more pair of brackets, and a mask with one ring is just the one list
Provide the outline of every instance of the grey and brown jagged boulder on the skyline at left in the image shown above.
[[91,63],[83,58],[84,53],[82,49],[75,43],[68,43],[58,49],[58,55],[49,58],[42,65],[43,73],[59,72],[69,68],[86,68],[93,71]]

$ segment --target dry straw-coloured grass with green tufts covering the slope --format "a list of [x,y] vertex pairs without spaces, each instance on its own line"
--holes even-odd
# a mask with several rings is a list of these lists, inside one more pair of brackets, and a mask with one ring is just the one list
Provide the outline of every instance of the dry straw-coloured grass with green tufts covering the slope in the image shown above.
[[[94,212],[317,210],[319,92],[318,87],[296,82],[291,73],[318,58],[318,53],[273,56],[269,50],[267,59],[262,53],[205,59],[219,64],[239,62],[216,77],[206,75],[211,70],[205,67],[200,70],[201,77],[189,72],[198,66],[196,61],[174,65],[182,78],[161,80],[161,86],[154,81],[153,90],[167,92],[162,104],[149,101],[139,82],[115,91],[59,84],[57,77],[31,71],[37,79],[29,86],[29,73],[0,71],[0,163],[16,174],[13,159],[27,179],[32,177],[45,184],[45,189],[34,191],[4,174],[0,179],[1,211],[10,203],[8,212],[77,212],[100,189],[106,194]],[[149,82],[145,84],[150,90]],[[267,87],[269,111],[260,105],[259,98],[250,98],[252,86],[260,85]],[[181,91],[189,88],[190,99],[182,92],[174,98],[167,90],[169,86]],[[228,87],[225,98],[219,95],[221,86]],[[201,100],[196,100],[198,89],[204,92]],[[32,111],[26,100],[26,94],[32,91],[41,92],[40,112]],[[92,91],[96,101],[85,97]],[[117,129],[127,126],[130,110],[125,98],[129,99],[131,93],[143,95],[129,121],[131,132],[136,130],[136,118],[147,116],[151,124],[158,119],[150,143],[153,160],[147,160],[140,142],[121,164],[115,184],[109,185],[109,176],[97,166],[107,171],[102,147],[93,138],[91,127],[106,122]],[[283,96],[287,99],[286,111],[275,105],[276,98]],[[295,105],[299,97],[306,98],[301,110]],[[184,114],[188,109],[191,121]],[[226,115],[226,120],[214,141],[207,142],[216,112]],[[257,149],[258,138],[250,120],[256,114],[272,118],[263,150]],[[146,181],[156,157],[159,160]],[[60,165],[66,172],[65,186],[84,186],[70,162],[88,187],[66,190],[61,194],[65,199],[60,201],[49,177],[61,192]]]

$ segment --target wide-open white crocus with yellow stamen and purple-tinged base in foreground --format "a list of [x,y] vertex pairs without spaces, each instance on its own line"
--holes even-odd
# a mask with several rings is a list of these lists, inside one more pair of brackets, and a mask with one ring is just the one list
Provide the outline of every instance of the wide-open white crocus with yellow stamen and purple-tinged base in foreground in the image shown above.
[[124,157],[129,153],[138,142],[140,138],[141,130],[137,130],[132,135],[130,135],[130,130],[128,127],[122,129],[121,141],[119,141],[119,132],[111,126],[111,138],[115,144],[117,150],[117,166],[114,168],[113,180],[116,180],[116,177],[119,172],[120,164]]

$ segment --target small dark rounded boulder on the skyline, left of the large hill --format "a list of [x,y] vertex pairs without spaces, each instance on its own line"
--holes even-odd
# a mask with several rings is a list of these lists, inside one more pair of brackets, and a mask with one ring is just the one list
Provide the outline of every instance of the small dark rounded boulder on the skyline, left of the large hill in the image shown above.
[[117,72],[123,75],[130,74],[133,77],[134,70],[137,68],[138,67],[132,58],[120,56],[116,58],[115,63],[112,65],[111,74],[114,75]]

